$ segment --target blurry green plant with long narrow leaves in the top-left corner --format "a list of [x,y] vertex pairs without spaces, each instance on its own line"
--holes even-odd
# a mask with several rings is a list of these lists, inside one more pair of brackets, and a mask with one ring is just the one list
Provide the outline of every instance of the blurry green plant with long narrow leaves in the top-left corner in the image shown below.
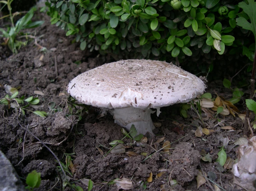
[[20,49],[21,46],[26,46],[27,44],[27,41],[17,40],[18,33],[25,28],[34,28],[34,27],[41,26],[44,23],[44,21],[35,21],[35,22],[31,21],[32,17],[34,16],[34,11],[36,10],[36,8],[32,8],[30,9],[30,11],[28,11],[27,14],[25,14],[25,16],[21,17],[14,25],[13,16],[11,13],[12,1],[13,0],[0,1],[0,3],[7,4],[7,7],[10,13],[9,17],[11,20],[11,27],[8,27],[7,31],[5,29],[0,28],[0,32],[2,32],[2,34],[0,34],[0,37],[4,37],[5,38],[4,44],[6,44],[13,53],[17,54],[18,53],[17,49]]

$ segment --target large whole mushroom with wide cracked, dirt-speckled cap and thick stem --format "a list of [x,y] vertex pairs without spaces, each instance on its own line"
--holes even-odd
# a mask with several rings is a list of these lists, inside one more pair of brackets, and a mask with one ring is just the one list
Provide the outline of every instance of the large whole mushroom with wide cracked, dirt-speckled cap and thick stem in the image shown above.
[[175,103],[189,102],[202,94],[204,82],[195,75],[156,60],[120,60],[84,72],[68,85],[78,101],[113,109],[115,122],[127,130],[153,134],[152,111]]

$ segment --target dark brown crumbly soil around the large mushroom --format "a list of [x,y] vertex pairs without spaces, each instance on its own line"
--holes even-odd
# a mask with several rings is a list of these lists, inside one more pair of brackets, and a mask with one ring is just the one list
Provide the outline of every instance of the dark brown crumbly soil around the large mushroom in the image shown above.
[[[179,115],[179,105],[165,107],[161,109],[159,117],[152,114],[153,122],[161,124],[154,130],[156,136],[146,134],[148,141],[141,144],[128,138],[123,139],[121,127],[114,123],[113,117],[108,113],[101,113],[98,108],[88,106],[82,112],[80,121],[79,114],[70,115],[67,95],[63,92],[66,84],[78,74],[113,59],[109,55],[81,51],[79,44],[73,43],[72,36],[66,37],[65,31],[52,26],[48,17],[42,17],[45,23],[41,27],[34,31],[27,30],[38,38],[39,45],[35,45],[34,39],[29,39],[28,45],[16,55],[7,47],[0,46],[0,98],[7,94],[3,87],[5,84],[18,87],[19,98],[34,96],[40,99],[37,106],[29,107],[30,110],[48,112],[48,116],[42,118],[29,111],[22,115],[15,109],[8,108],[8,105],[0,105],[0,149],[11,161],[24,184],[27,174],[36,170],[41,172],[42,183],[34,190],[60,190],[62,172],[56,170],[59,164],[45,147],[47,145],[64,164],[66,156],[71,156],[74,172],[72,175],[67,168],[71,174],[67,171],[66,174],[70,185],[74,184],[83,190],[87,190],[87,185],[80,180],[85,178],[94,182],[92,190],[118,190],[115,184],[106,184],[116,178],[132,180],[132,190],[197,190],[196,177],[200,171],[227,191],[241,189],[233,183],[231,169],[224,169],[215,162],[222,147],[220,140],[226,137],[231,145],[226,150],[227,156],[234,160],[237,158],[232,142],[244,136],[242,120],[237,115],[235,118],[232,115],[218,115],[221,121],[224,120],[221,123],[211,118],[206,119],[206,127],[214,132],[210,135],[203,134],[199,138],[195,136],[195,130],[202,124],[193,110],[188,110],[189,117],[184,119]],[[41,51],[39,46],[46,50]],[[42,93],[35,94],[35,90]],[[231,91],[217,87],[215,82],[209,83],[207,92],[215,95],[215,91],[225,98],[232,95]],[[49,110],[50,102],[55,102],[58,111]],[[244,110],[244,106],[239,109]],[[73,108],[73,113],[76,111]],[[174,121],[178,121],[178,124]],[[232,126],[236,131],[222,130],[222,126]],[[33,135],[25,133],[24,128]],[[157,142],[163,137],[164,141]],[[134,156],[127,153],[107,153],[111,148],[109,143],[121,139],[124,141],[125,151],[135,152]],[[171,149],[168,152],[156,152],[165,141],[173,142]],[[100,151],[106,156],[103,157]],[[143,162],[146,158],[143,153],[152,156]],[[210,153],[212,162],[201,160],[204,153]],[[164,169],[164,173],[160,176],[158,173],[161,169]],[[151,172],[152,182],[146,182]],[[177,181],[175,187],[170,187],[169,183],[173,182],[171,180]],[[198,190],[214,190],[212,182],[207,180]],[[65,191],[68,190],[74,190],[74,187],[67,185]]]

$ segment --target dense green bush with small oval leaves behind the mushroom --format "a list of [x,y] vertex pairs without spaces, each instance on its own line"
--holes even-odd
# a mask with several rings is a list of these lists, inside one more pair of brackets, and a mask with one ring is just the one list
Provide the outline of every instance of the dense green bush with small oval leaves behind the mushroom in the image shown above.
[[[51,23],[76,35],[81,50],[123,51],[125,58],[167,60],[218,54],[253,60],[255,41],[238,27],[247,14],[233,0],[51,0]],[[208,53],[212,54],[208,54]],[[218,53],[217,53],[218,52]],[[217,53],[217,54],[216,54]],[[199,57],[198,57],[199,55]],[[229,59],[230,60],[230,59]]]

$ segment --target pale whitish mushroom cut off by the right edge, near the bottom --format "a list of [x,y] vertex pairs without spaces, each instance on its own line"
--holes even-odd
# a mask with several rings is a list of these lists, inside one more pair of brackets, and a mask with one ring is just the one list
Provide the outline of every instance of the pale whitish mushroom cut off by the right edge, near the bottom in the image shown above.
[[256,136],[248,141],[248,145],[238,147],[239,162],[233,165],[234,182],[247,190],[256,190]]

